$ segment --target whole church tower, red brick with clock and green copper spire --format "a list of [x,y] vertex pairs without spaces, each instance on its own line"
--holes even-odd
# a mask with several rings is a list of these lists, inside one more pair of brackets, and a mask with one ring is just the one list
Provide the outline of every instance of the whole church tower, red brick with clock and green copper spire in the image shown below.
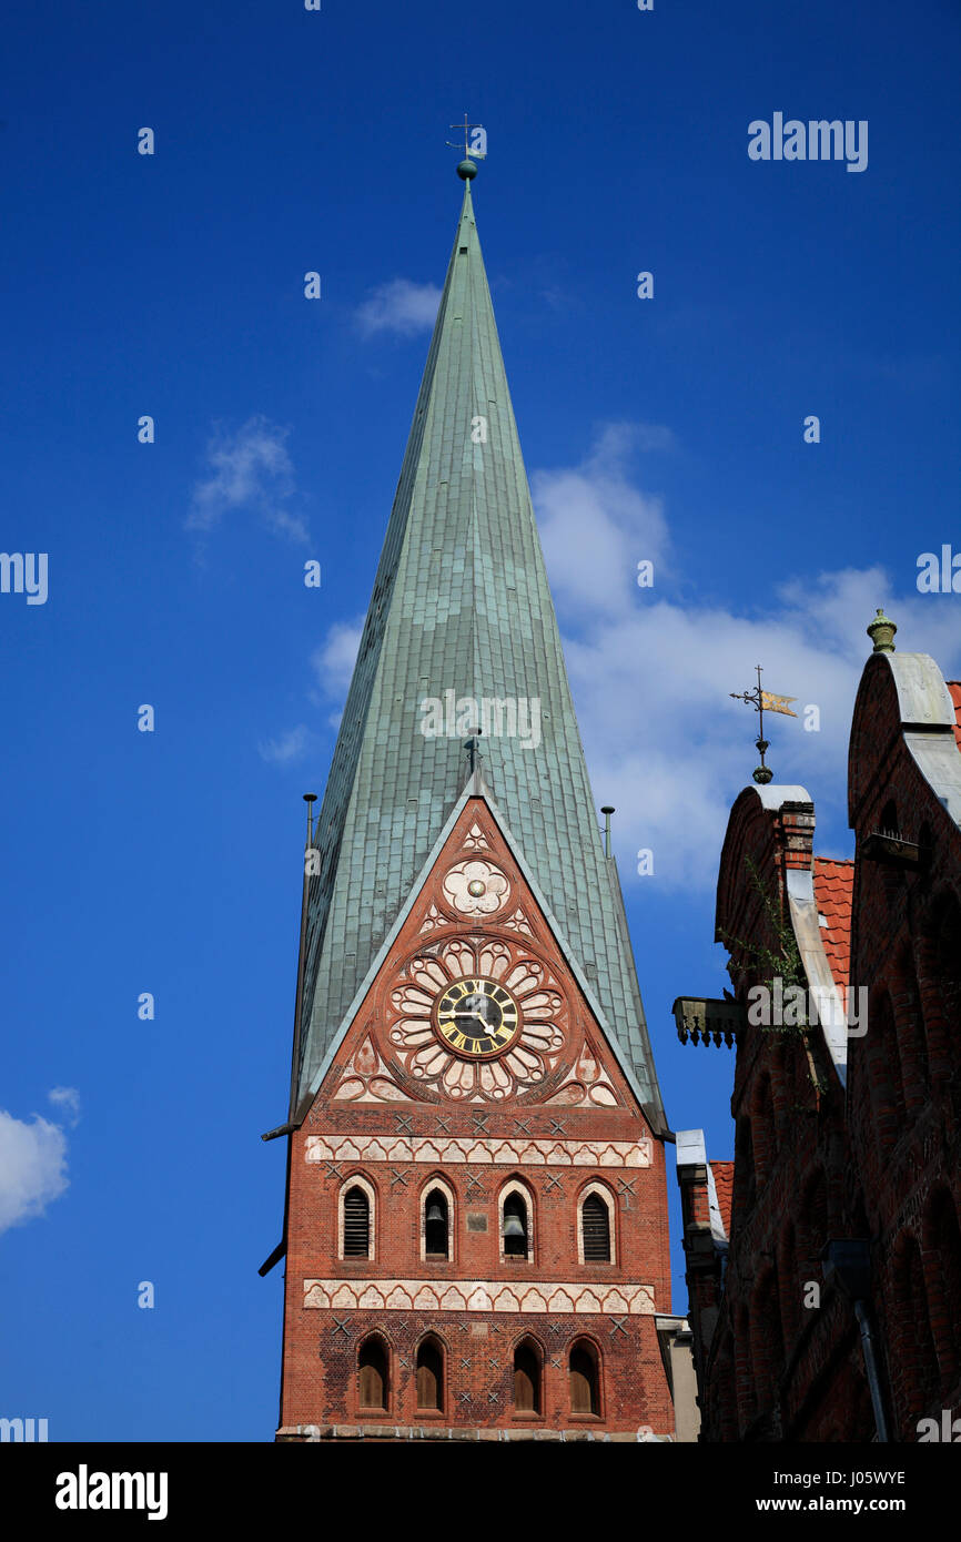
[[475,171],[307,848],[281,1440],[674,1428],[666,1121]]

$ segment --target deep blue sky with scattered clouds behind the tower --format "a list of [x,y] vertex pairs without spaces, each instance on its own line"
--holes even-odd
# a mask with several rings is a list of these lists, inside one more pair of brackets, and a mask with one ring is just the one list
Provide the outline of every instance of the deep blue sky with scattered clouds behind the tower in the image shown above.
[[[764,663],[819,706],[816,734],[773,722],[770,760],[845,856],[875,606],[961,669],[959,598],[915,584],[961,549],[959,42],[946,0],[8,6],[0,544],[46,552],[49,594],[0,595],[0,1412],[273,1436],[282,1281],[256,1271],[284,1143],[259,1132],[285,1116],[299,794],[333,749],[464,111],[668,1116],[730,1155],[733,1061],[669,1016],[727,982],[713,885],[754,765],[727,692]],[[750,160],[776,111],[867,120],[867,170]]]

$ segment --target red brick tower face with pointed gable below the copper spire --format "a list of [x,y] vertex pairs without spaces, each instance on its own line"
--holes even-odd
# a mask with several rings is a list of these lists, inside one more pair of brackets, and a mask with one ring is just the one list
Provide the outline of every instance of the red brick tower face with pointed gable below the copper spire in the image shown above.
[[[523,1025],[483,1061],[438,1032],[438,1001],[470,976],[509,988]],[[369,1254],[346,1257],[358,1187]],[[449,1257],[426,1255],[432,1192]],[[504,1252],[512,1194],[526,1257]],[[585,1261],[588,1195],[609,1261]],[[293,1136],[279,1439],[669,1437],[656,1311],[669,1312],[663,1144],[487,800],[470,797]],[[437,1408],[418,1396],[424,1343]],[[361,1402],[372,1385],[379,1408]]]

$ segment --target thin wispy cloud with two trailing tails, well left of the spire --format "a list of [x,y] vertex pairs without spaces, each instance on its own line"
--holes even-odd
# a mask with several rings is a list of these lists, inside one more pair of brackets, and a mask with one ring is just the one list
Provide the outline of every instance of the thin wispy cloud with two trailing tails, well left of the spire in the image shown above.
[[230,510],[253,509],[275,534],[304,544],[307,524],[287,506],[296,493],[288,432],[259,413],[236,433],[217,430],[207,446],[208,475],[191,493],[187,529],[207,534]]

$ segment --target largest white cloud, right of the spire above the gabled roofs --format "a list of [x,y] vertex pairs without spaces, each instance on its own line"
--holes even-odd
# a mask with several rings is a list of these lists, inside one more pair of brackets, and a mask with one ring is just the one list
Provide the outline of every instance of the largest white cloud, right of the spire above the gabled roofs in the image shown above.
[[[794,711],[821,709],[819,732],[805,732],[802,717],[765,717],[767,759],[776,782],[807,786],[819,823],[830,820],[835,839],[818,848],[845,854],[847,742],[872,646],[864,629],[884,606],[899,645],[933,654],[950,677],[961,663],[953,614],[938,597],[895,595],[878,566],[794,578],[762,615],[699,608],[686,594],[682,604],[671,597],[663,510],[629,480],[629,446],[617,426],[582,466],[532,478],[591,783],[599,803],[617,808],[625,887],[645,882],[642,847],[665,887],[714,885],[731,803],[757,765],[756,714],[730,692],[756,685],[756,663],[767,689],[797,697]],[[637,588],[639,557],[656,561],[652,589]]]

